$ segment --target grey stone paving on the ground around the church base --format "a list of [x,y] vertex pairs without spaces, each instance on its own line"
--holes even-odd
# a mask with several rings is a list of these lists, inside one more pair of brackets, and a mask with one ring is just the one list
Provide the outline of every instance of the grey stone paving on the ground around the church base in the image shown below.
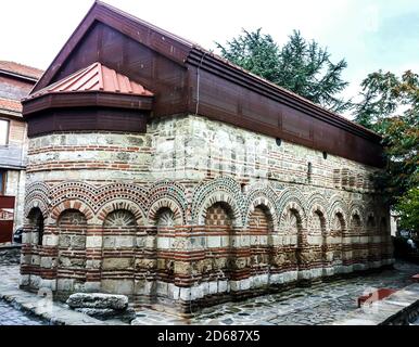
[[[378,324],[371,318],[354,317],[356,298],[368,288],[389,287],[401,290],[411,284],[411,274],[419,273],[419,265],[398,261],[395,269],[378,273],[357,275],[333,282],[323,282],[310,287],[297,287],[283,293],[264,295],[240,303],[226,303],[193,312],[189,319],[152,309],[137,311],[134,325],[321,325],[347,319],[347,324]],[[51,307],[39,305],[40,297],[21,291],[16,262],[0,262],[0,298],[48,319],[55,324],[124,324],[122,321],[100,321],[87,314],[69,310],[66,305],[53,303]],[[399,297],[393,294],[388,308],[403,309],[416,293]],[[407,300],[407,301],[406,301]]]

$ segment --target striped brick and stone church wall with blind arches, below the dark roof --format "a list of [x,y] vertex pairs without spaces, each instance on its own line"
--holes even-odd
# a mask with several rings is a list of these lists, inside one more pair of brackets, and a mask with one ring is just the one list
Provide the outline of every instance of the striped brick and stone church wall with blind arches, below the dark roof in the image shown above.
[[190,309],[392,264],[376,168],[200,116],[29,141],[22,286]]

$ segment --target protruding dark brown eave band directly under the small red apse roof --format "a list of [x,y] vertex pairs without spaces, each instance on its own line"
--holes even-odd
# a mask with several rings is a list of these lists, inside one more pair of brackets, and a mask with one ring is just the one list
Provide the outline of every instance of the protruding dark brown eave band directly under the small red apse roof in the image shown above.
[[67,107],[114,107],[151,111],[153,97],[109,93],[103,91],[56,92],[22,101],[24,118],[49,108]]

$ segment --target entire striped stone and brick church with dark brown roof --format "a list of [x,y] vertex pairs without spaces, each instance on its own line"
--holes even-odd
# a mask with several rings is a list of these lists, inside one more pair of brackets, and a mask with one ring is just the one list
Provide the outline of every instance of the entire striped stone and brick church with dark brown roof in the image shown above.
[[102,2],[23,115],[23,288],[188,311],[393,262],[378,134]]

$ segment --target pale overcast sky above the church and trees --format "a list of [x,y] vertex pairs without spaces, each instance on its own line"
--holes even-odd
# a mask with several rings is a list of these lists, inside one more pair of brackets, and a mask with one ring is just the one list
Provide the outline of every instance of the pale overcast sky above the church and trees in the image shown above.
[[[0,60],[47,68],[92,0],[0,0]],[[214,50],[241,33],[263,28],[281,46],[293,29],[345,59],[354,97],[382,68],[419,73],[418,0],[106,0],[107,3]]]

